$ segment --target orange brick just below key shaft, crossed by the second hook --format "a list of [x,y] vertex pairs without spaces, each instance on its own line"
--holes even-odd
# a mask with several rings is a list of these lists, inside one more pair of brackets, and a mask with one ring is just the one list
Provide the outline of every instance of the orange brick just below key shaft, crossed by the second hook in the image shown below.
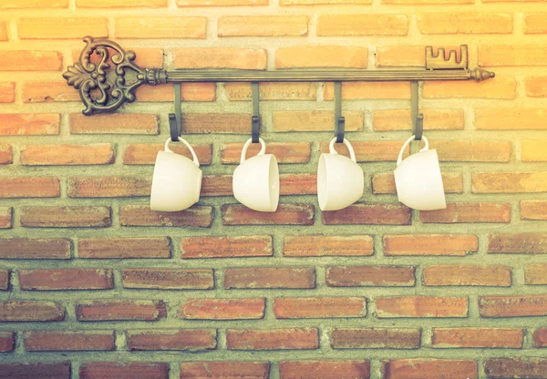
[[[229,100],[250,100],[251,84],[226,83]],[[261,100],[315,100],[315,83],[261,82],[258,87]]]

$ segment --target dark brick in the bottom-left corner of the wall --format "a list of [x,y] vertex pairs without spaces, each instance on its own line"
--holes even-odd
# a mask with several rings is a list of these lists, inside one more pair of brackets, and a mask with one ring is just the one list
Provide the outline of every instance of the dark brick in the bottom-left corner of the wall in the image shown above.
[[70,362],[0,364],[7,378],[70,379]]

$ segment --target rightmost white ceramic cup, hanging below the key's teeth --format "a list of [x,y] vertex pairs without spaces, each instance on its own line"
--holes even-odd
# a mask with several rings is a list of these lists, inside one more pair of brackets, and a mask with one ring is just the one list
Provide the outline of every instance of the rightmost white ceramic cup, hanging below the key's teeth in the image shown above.
[[422,138],[426,146],[418,153],[403,160],[403,152],[414,136],[407,139],[399,152],[394,171],[398,200],[415,210],[444,210],[447,203],[437,150],[430,150],[428,138]]

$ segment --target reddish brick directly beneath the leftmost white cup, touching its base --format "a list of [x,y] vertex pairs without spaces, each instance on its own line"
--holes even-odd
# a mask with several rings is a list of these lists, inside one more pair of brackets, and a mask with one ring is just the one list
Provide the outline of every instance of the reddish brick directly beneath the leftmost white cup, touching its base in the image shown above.
[[149,205],[123,205],[119,210],[122,226],[170,226],[210,228],[212,207],[194,205],[188,210],[160,212],[150,210]]

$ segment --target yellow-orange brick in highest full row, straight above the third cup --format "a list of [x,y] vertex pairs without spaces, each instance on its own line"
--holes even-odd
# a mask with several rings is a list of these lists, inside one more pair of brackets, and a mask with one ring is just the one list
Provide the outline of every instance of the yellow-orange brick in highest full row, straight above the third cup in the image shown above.
[[407,36],[407,15],[318,15],[317,36]]

